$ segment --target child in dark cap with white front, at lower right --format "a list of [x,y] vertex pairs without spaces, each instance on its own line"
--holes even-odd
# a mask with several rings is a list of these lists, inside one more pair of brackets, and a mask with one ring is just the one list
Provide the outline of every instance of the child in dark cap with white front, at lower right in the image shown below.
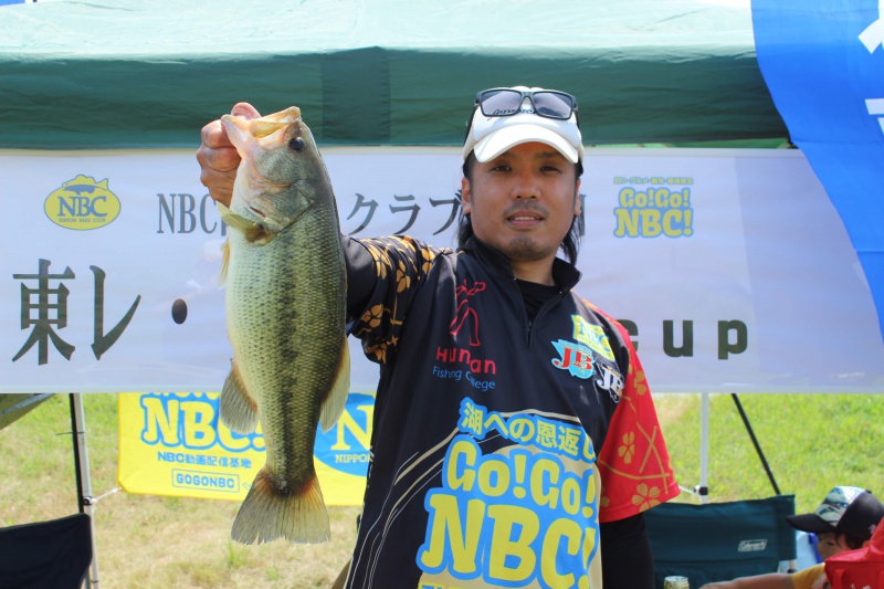
[[[884,505],[871,491],[855,486],[836,486],[812,514],[790,515],[786,519],[801,532],[818,536],[817,550],[825,559],[848,550],[862,548],[872,539],[884,518]],[[732,581],[704,585],[701,589],[825,589],[824,562],[798,572],[774,572],[740,577]]]

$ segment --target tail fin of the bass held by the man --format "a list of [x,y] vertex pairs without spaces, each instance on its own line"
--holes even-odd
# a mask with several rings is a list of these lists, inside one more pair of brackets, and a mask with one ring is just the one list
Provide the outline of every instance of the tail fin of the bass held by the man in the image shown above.
[[230,536],[242,544],[257,544],[285,538],[288,541],[319,544],[332,532],[316,473],[296,491],[280,490],[266,466],[255,476],[245,496]]

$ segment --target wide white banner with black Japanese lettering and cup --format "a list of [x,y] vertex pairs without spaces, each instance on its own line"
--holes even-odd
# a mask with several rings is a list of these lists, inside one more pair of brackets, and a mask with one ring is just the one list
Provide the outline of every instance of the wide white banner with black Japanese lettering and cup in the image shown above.
[[[459,151],[324,149],[341,229],[453,245]],[[577,291],[624,320],[652,390],[884,391],[869,287],[799,151],[587,154]],[[193,151],[3,151],[0,173],[0,392],[220,390],[225,228]]]

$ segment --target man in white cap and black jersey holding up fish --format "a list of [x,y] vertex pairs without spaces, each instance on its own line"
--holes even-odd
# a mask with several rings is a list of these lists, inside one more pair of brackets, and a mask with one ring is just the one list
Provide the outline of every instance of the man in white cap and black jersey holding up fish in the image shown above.
[[[240,103],[231,115],[264,137],[275,133],[270,127],[280,114],[260,117]],[[299,117],[296,125],[306,128]],[[349,334],[380,365],[372,460],[347,587],[598,589],[603,580],[609,589],[651,588],[642,512],[678,487],[629,334],[571,291],[580,277],[573,262],[583,169],[577,99],[544,88],[491,88],[476,95],[469,125],[456,251],[408,236],[340,235]],[[238,192],[275,194],[285,182],[253,178],[243,187],[243,170],[255,165],[233,147],[225,127],[217,120],[202,129],[197,158],[228,224],[246,235],[263,235],[267,225],[281,236],[303,231],[297,219],[291,229],[274,225],[273,206],[236,204]],[[312,137],[302,146],[286,133],[280,149],[315,151]],[[294,135],[306,139],[308,132]],[[311,157],[313,171],[299,173],[320,178],[322,160]],[[307,197],[298,197],[304,209],[325,202],[322,192],[330,190],[312,182]],[[317,235],[311,249],[327,249],[323,240]],[[282,265],[275,272],[296,271]],[[338,329],[330,329],[329,343],[339,339]],[[259,385],[241,378],[250,369],[236,369],[259,357],[234,358],[228,381],[245,393],[229,398],[253,401],[251,411],[271,420],[285,403],[264,408],[264,396],[251,393]],[[343,386],[336,371],[345,361],[336,357],[324,369],[334,374],[313,403],[314,430],[317,421],[330,427],[336,419]],[[252,417],[230,420],[253,423]],[[276,460],[267,481],[278,482],[277,494],[312,494],[315,503],[318,485],[303,482],[309,473],[284,474],[292,469],[280,465],[287,463]],[[248,517],[269,517],[262,514],[253,509]],[[249,543],[323,537],[314,524],[303,535],[243,526],[238,539]]]

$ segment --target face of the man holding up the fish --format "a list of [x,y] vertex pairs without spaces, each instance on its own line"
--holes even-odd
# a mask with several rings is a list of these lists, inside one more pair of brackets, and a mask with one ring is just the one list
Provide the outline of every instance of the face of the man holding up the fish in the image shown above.
[[565,156],[546,144],[520,144],[475,162],[472,182],[462,181],[463,212],[476,238],[503,252],[519,276],[522,267],[551,264],[580,214],[579,188]]

